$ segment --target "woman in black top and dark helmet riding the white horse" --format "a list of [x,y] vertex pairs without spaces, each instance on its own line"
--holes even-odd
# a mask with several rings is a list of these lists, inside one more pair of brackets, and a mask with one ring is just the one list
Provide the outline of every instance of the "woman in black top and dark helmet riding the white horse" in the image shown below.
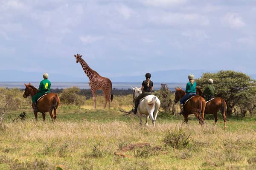
[[153,82],[150,80],[151,74],[150,73],[146,73],[145,77],[146,77],[146,80],[144,80],[142,82],[142,85],[141,85],[142,94],[140,94],[137,97],[137,99],[135,100],[135,108],[132,110],[134,112],[134,114],[137,113],[137,109],[138,109],[138,105],[139,105],[140,99],[142,99],[145,96],[150,95],[151,91],[153,90]]

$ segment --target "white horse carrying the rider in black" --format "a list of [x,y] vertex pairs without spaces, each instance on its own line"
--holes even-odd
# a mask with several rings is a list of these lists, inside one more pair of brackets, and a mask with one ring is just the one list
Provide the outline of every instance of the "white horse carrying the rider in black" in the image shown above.
[[[133,99],[136,100],[137,97],[142,94],[141,88],[132,88],[133,91]],[[157,98],[157,96],[154,95],[148,95],[145,96],[145,98],[140,100],[140,104],[138,106],[137,114],[140,119],[140,125],[142,125],[142,116],[145,114],[146,117],[146,123],[145,125],[148,126],[148,119],[149,117],[152,119],[152,124],[155,127],[155,122],[157,119],[157,113],[160,108],[160,100]]]

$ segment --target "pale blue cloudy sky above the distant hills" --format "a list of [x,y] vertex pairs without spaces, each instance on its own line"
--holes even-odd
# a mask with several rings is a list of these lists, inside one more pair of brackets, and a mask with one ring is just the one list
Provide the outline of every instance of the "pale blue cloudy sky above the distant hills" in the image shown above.
[[255,0],[0,0],[0,73],[81,76],[81,54],[104,77],[256,74],[255,16]]

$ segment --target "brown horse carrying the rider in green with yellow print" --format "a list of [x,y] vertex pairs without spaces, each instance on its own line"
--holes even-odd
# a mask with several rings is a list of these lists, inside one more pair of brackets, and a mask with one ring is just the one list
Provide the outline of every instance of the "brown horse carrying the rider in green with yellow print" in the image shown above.
[[[31,85],[31,83],[29,83],[28,85],[25,85],[25,91],[23,94],[23,97],[26,98],[27,96],[34,96],[37,92],[38,89],[35,88],[33,85]],[[41,99],[38,100],[37,102],[37,107],[38,107],[38,111],[34,111],[35,114],[35,120],[37,120],[38,117],[38,112],[41,112],[43,115],[43,119],[45,121],[45,112],[49,112],[50,116],[52,118],[52,122],[54,123],[56,117],[57,117],[57,108],[58,105],[60,103],[60,98],[58,97],[57,94],[54,93],[49,93],[47,95],[45,95],[44,97],[42,97]],[[32,104],[32,108],[34,108],[34,105]],[[54,116],[52,114],[52,111],[54,110]]]

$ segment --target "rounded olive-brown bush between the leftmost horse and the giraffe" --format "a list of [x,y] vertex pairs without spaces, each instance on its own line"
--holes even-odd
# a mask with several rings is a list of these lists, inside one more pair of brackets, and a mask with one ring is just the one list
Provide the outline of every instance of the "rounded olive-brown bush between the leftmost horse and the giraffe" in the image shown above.
[[85,97],[79,95],[80,89],[78,87],[66,88],[60,94],[61,103],[83,105]]

